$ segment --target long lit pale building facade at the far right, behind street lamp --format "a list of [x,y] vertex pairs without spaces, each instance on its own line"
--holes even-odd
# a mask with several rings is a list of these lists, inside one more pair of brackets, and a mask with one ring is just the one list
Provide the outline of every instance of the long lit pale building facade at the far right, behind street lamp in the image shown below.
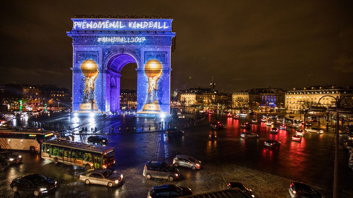
[[[286,113],[303,113],[305,110],[310,109],[310,106],[317,104],[320,98],[325,95],[333,97],[341,97],[353,95],[352,86],[311,86],[304,88],[293,88],[292,91],[287,91],[285,95]],[[352,103],[352,98],[347,98],[348,104]],[[320,103],[325,107],[335,104],[335,99],[332,97],[324,97]]]

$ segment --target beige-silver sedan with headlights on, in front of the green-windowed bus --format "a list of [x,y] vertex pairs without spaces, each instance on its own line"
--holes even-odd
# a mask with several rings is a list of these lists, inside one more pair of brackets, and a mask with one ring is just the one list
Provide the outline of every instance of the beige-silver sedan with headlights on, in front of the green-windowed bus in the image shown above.
[[122,177],[122,174],[114,173],[105,168],[89,169],[80,174],[80,180],[84,181],[86,185],[100,184],[108,187],[118,186]]

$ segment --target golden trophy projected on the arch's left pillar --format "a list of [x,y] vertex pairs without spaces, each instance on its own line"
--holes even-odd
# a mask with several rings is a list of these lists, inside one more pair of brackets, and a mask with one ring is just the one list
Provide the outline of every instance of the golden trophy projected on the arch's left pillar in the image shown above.
[[94,81],[99,73],[98,65],[94,60],[85,60],[81,64],[81,70],[85,76],[85,89],[79,110],[98,111],[96,100],[94,99]]

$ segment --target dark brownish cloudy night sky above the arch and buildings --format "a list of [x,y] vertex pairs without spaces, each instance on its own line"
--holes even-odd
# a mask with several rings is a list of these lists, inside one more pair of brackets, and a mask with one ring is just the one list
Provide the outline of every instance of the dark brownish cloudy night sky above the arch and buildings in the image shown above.
[[[71,18],[102,14],[172,16],[171,92],[212,76],[225,93],[353,85],[352,1],[55,2],[1,1],[0,84],[72,89]],[[122,69],[122,89],[136,89],[135,68]]]

